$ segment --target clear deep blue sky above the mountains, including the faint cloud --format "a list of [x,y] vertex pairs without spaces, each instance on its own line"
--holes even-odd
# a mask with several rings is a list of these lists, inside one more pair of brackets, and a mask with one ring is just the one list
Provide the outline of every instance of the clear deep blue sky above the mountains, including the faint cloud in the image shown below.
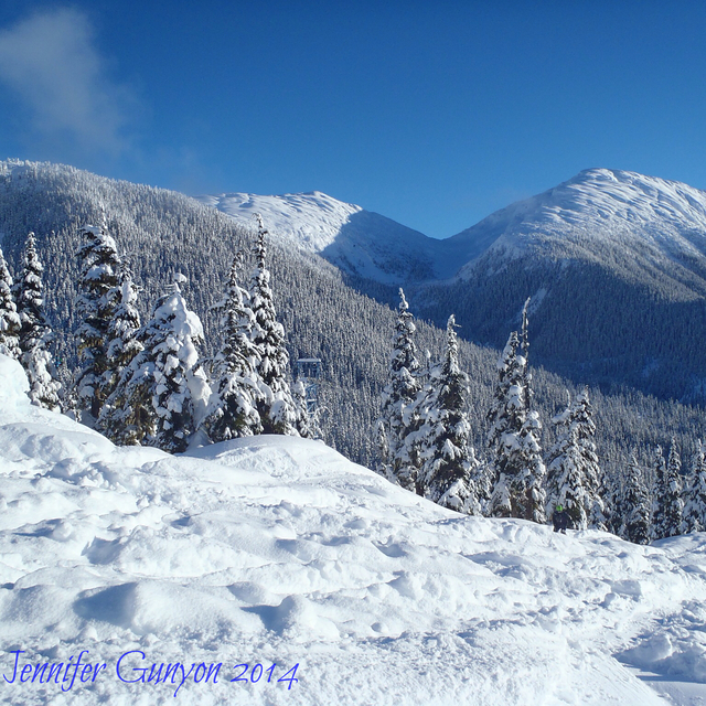
[[0,2],[0,158],[434,237],[581,169],[706,189],[706,3]]

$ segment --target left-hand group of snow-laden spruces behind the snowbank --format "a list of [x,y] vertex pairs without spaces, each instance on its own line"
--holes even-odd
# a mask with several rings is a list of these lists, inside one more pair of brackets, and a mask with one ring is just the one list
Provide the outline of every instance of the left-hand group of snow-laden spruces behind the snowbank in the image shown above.
[[49,344],[43,313],[43,267],[34,235],[25,240],[22,274],[13,284],[0,252],[0,352],[18,360],[32,404],[73,413],[116,443],[182,452],[194,435],[222,441],[257,434],[315,437],[306,391],[288,379],[285,330],[277,320],[267,231],[258,216],[249,288],[238,249],[222,301],[217,353],[204,357],[203,325],[189,309],[176,276],[141,323],[130,268],[101,225],[82,228],[78,295],[79,365],[62,377]]

